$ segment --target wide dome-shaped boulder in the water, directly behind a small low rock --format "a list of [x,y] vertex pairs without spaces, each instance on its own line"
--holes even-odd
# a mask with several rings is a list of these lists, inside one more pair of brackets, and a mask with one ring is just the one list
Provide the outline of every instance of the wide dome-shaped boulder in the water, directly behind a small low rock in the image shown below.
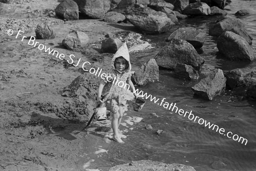
[[204,58],[198,55],[192,44],[182,39],[173,39],[169,44],[163,46],[155,59],[158,66],[168,69],[175,69],[176,65],[180,63],[200,70],[204,64]]

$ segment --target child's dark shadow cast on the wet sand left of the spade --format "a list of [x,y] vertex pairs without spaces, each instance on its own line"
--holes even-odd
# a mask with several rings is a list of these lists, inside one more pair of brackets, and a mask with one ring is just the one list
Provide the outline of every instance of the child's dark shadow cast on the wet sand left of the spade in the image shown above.
[[40,113],[33,112],[30,119],[34,125],[43,125],[49,134],[55,134],[55,136],[62,137],[67,140],[77,139],[71,135],[73,131],[82,130],[86,122],[81,121],[69,121],[61,118],[52,118],[49,116],[43,116]]

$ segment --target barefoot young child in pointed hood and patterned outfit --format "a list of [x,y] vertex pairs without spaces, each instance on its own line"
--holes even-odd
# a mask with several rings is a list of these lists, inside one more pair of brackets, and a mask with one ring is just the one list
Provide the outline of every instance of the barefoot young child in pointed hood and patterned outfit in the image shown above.
[[[113,70],[107,74],[99,84],[97,100],[104,99],[106,107],[113,114],[111,126],[113,129],[113,140],[122,141],[118,127],[123,116],[123,107],[126,104],[126,93],[129,88],[132,92],[134,84],[131,81],[131,63],[128,48],[124,43],[115,53],[111,60]],[[134,93],[135,98],[137,94]]]

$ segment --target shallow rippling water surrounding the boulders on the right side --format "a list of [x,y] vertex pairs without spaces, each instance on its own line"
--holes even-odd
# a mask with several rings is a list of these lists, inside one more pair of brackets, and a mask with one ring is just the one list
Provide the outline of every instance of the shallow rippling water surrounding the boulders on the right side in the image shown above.
[[[234,16],[239,9],[250,9],[251,14],[240,17],[245,23],[248,32],[253,37],[253,49],[256,52],[256,1],[233,0],[225,9],[228,15]],[[197,17],[183,20],[180,26],[193,26],[208,32],[209,22],[217,17]],[[153,43],[161,46],[168,35],[145,36]],[[205,58],[200,76],[203,78],[213,70],[219,68],[227,71],[241,67],[256,67],[256,61],[251,63],[231,62],[216,58],[216,41],[212,36],[207,39],[200,51]],[[131,54],[133,64],[143,64],[154,58],[157,49],[149,49],[140,53]],[[168,70],[160,70],[160,81],[146,85],[140,90],[151,93],[157,98],[166,98],[165,101],[175,102],[179,109],[190,111],[209,122],[232,131],[248,140],[247,145],[241,144],[227,136],[220,135],[213,130],[179,116],[149,100],[140,112],[129,110],[133,116],[143,117],[134,130],[128,133],[125,145],[111,143],[108,158],[118,156],[122,161],[151,159],[166,163],[180,163],[193,166],[197,171],[254,171],[256,170],[256,101],[238,100],[232,91],[227,90],[223,95],[206,101],[193,97],[191,87],[198,81],[181,81],[173,78]],[[150,113],[156,113],[152,116]],[[146,130],[150,124],[153,130]],[[163,134],[155,132],[164,130]],[[119,154],[119,155],[117,155]],[[106,159],[107,160],[107,159]],[[114,164],[124,163],[115,160]],[[213,162],[219,162],[213,167]],[[214,169],[215,168],[215,169]]]

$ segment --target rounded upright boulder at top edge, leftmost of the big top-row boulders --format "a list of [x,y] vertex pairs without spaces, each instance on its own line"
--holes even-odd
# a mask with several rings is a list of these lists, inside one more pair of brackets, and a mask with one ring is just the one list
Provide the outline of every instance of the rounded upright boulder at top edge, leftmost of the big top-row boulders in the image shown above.
[[73,0],[64,0],[55,8],[56,16],[65,20],[79,20],[78,5]]

